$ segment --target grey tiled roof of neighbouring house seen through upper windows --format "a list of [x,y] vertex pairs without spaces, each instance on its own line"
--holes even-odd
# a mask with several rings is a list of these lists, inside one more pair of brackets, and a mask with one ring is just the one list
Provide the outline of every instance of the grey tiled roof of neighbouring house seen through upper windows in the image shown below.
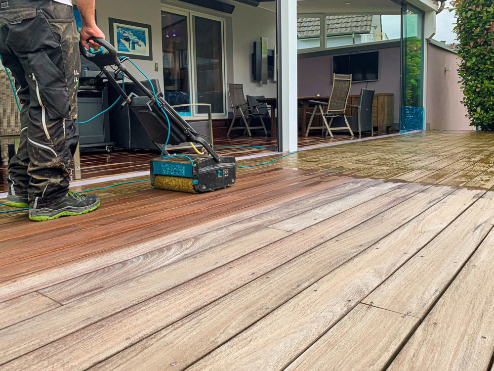
[[[371,15],[328,15],[326,17],[326,33],[331,34],[365,34],[371,32]],[[299,36],[319,35],[321,27],[319,18],[297,18]]]

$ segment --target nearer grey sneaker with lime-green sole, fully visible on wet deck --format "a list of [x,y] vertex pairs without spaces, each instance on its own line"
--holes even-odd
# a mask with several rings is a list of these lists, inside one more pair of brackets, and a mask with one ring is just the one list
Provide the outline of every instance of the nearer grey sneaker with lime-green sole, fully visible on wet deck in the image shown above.
[[100,204],[98,196],[94,194],[77,194],[67,192],[55,205],[41,209],[29,209],[29,219],[41,222],[58,219],[62,216],[75,216],[96,210]]

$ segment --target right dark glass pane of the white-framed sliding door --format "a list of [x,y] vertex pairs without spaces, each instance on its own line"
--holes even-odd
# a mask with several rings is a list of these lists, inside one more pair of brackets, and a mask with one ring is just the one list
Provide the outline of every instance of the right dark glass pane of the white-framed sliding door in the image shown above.
[[[222,24],[198,16],[193,21],[197,102],[209,103],[212,113],[224,114]],[[197,113],[208,109],[199,106]]]

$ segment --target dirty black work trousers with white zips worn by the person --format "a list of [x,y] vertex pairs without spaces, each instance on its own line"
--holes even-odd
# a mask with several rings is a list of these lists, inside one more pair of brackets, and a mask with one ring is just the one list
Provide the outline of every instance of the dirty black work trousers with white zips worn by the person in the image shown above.
[[9,193],[28,197],[34,209],[55,204],[67,193],[79,141],[81,60],[72,7],[8,0],[0,9],[0,55],[20,84],[22,105],[19,150],[8,166]]

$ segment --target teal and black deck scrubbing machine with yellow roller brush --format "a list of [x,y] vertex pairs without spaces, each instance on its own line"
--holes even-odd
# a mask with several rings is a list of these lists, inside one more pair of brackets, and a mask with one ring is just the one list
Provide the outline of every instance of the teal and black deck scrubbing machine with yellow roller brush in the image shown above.
[[[160,157],[150,161],[153,186],[159,189],[200,193],[225,188],[235,183],[235,157],[218,156],[206,140],[165,101],[163,93],[145,88],[125,67],[124,62],[129,58],[119,58],[115,48],[103,39],[89,40],[102,47],[94,51],[79,44],[82,55],[101,68],[101,73],[124,99],[122,108],[125,104],[129,105],[153,143],[162,150]],[[136,84],[145,96],[137,96],[134,93],[127,95],[115,79],[119,74]],[[201,145],[207,154],[170,155],[166,151],[166,144],[178,145],[185,142]]]

